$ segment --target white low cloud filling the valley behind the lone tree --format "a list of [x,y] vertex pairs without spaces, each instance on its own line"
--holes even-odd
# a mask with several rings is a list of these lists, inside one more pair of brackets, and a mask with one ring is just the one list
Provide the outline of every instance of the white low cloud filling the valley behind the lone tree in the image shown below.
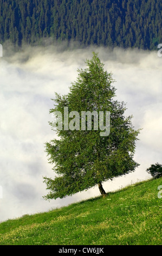
[[104,183],[106,191],[150,178],[146,168],[161,162],[161,60],[156,51],[88,47],[62,50],[57,46],[13,51],[3,45],[0,58],[0,185],[3,188],[0,221],[47,211],[77,200],[98,196],[98,188],[46,202],[42,176],[54,177],[44,143],[56,135],[50,129],[49,109],[55,92],[66,94],[77,69],[98,52],[105,69],[113,73],[116,99],[127,103],[135,129],[142,128],[134,159],[134,173]]

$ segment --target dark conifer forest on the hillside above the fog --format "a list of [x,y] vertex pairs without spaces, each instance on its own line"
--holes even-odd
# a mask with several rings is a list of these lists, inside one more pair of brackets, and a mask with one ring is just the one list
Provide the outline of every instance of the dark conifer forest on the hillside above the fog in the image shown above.
[[50,37],[152,50],[162,42],[161,7],[161,0],[1,0],[0,42]]

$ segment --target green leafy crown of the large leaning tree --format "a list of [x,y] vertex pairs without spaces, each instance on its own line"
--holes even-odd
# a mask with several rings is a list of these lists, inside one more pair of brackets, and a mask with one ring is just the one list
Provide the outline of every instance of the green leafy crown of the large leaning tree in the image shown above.
[[[87,190],[102,181],[113,179],[138,166],[133,160],[135,141],[139,133],[132,127],[131,118],[125,117],[124,102],[114,100],[115,88],[112,74],[103,69],[97,54],[86,60],[87,68],[78,70],[76,82],[72,83],[67,95],[56,94],[55,108],[50,113],[60,111],[64,117],[64,107],[69,113],[77,111],[111,112],[110,133],[100,136],[100,129],[57,130],[59,139],[46,143],[49,162],[54,164],[56,178],[44,177],[50,193],[46,199],[63,198],[76,192]],[[99,120],[98,120],[99,122]],[[50,123],[53,126],[52,123]],[[98,125],[99,127],[99,125]]]

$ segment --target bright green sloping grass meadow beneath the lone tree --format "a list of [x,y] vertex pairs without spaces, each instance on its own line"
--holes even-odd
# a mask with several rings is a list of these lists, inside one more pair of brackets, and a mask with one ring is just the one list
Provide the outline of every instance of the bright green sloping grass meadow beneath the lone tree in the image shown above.
[[0,223],[0,245],[161,245],[162,178]]

